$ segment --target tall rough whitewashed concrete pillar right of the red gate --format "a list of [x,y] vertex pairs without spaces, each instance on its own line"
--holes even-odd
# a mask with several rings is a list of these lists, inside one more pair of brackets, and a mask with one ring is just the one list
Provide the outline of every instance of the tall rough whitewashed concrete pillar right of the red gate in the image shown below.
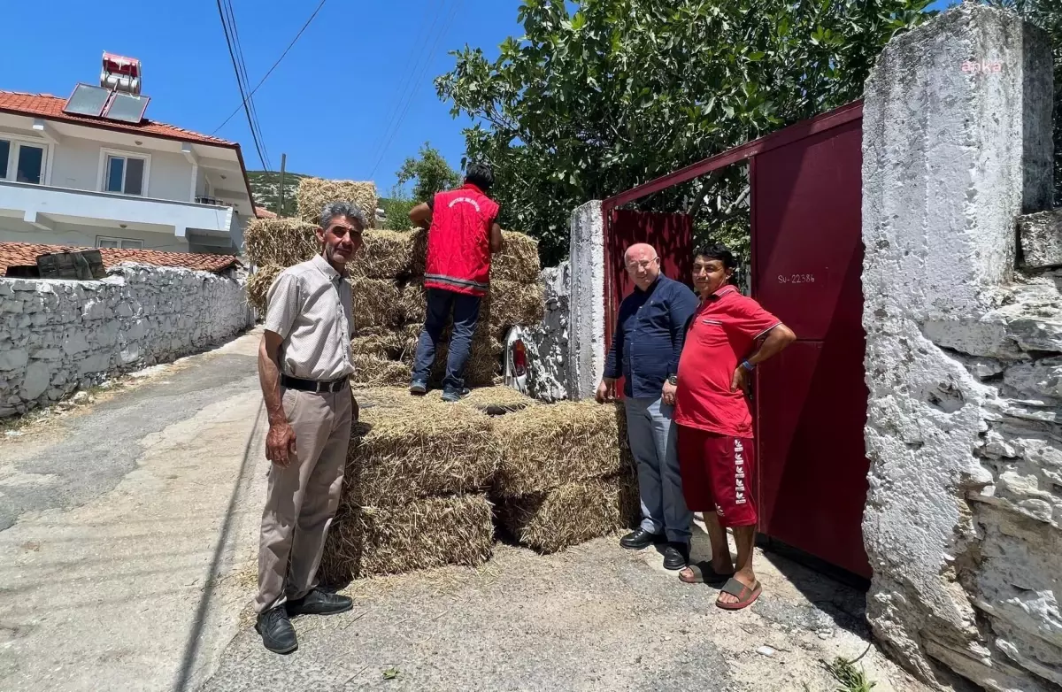
[[992,690],[1044,688],[977,611],[969,499],[995,482],[977,450],[996,391],[971,368],[1018,358],[982,317],[1013,277],[1016,217],[1050,200],[1051,90],[1047,36],[966,3],[890,41],[863,106],[868,618],[923,678],[937,660]]

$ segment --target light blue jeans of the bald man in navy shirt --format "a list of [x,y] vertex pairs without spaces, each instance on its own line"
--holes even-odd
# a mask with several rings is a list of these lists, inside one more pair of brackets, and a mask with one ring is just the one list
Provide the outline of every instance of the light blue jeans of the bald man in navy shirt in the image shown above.
[[627,437],[638,465],[641,527],[667,539],[688,543],[693,515],[686,508],[679,471],[678,429],[671,425],[674,408],[661,399],[623,400]]

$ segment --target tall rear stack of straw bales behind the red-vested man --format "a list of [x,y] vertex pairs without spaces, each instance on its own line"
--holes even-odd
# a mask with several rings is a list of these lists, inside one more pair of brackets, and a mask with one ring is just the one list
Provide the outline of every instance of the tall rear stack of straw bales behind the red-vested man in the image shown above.
[[[251,304],[266,311],[266,296],[285,267],[318,253],[315,229],[321,209],[330,201],[348,198],[367,210],[376,209],[375,187],[304,178],[296,191],[301,219],[260,219],[244,232],[247,257],[258,266],[249,280]],[[502,340],[516,325],[532,325],[543,317],[538,282],[538,244],[524,233],[503,231],[504,249],[494,258],[491,291],[483,302],[480,325],[473,339],[465,380],[472,386],[495,382],[501,369]],[[428,231],[366,230],[363,247],[350,262],[355,325],[353,350],[356,384],[380,386],[409,382],[416,340],[424,324],[424,271]],[[433,383],[445,370],[449,334],[436,353]]]

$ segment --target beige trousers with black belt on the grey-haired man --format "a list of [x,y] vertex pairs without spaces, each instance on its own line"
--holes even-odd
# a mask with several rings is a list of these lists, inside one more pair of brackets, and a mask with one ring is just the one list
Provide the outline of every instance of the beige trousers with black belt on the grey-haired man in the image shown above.
[[263,612],[301,599],[316,586],[325,535],[339,507],[350,443],[349,388],[312,394],[285,390],[288,422],[295,431],[295,457],[273,464],[258,549],[258,595]]

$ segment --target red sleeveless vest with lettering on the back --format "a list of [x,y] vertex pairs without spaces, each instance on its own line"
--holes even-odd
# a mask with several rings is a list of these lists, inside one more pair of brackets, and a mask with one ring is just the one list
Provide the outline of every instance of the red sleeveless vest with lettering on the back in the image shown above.
[[470,183],[440,192],[431,208],[424,287],[485,295],[491,278],[491,225],[498,203]]

